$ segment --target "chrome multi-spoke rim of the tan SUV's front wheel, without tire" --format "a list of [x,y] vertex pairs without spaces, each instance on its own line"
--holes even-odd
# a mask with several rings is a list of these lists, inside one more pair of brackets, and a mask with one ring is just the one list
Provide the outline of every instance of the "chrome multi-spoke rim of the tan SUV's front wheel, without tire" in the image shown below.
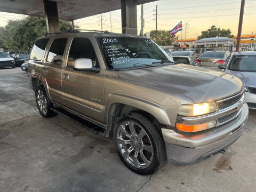
[[117,128],[117,146],[130,165],[145,169],[154,155],[153,145],[146,131],[134,121],[125,121]]

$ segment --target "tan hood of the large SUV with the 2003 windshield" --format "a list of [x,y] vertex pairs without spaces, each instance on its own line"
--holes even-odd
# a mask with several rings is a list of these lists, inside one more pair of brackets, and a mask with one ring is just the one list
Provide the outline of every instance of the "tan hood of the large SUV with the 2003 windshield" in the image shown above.
[[170,65],[118,71],[119,77],[186,95],[194,102],[220,100],[239,93],[239,78],[217,70],[190,65]]

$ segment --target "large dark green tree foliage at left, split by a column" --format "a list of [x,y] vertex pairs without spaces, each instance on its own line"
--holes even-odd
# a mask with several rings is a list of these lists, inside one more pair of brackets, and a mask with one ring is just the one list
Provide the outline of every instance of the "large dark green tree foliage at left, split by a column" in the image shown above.
[[[70,29],[70,22],[60,20],[61,31]],[[46,33],[45,18],[29,16],[25,19],[9,20],[4,28],[0,28],[0,47],[9,51],[29,50],[36,39]]]

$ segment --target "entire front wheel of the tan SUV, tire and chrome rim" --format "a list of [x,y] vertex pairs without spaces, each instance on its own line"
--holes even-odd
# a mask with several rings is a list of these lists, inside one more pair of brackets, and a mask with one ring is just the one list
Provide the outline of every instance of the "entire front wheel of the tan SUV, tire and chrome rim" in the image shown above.
[[125,114],[115,123],[113,138],[117,154],[133,172],[149,175],[165,165],[164,142],[157,129],[137,112]]

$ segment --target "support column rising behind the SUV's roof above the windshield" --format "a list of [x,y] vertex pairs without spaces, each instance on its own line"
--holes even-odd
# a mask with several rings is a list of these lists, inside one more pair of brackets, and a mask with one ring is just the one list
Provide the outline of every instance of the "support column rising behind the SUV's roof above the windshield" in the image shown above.
[[137,35],[137,0],[121,0],[122,33]]

